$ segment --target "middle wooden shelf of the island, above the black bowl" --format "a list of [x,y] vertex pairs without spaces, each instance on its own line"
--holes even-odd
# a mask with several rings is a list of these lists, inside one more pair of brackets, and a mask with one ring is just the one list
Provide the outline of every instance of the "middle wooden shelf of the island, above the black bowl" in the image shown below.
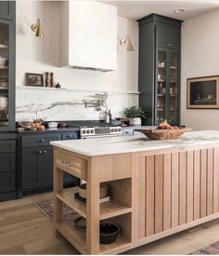
[[[71,190],[64,190],[62,194],[56,194],[56,197],[68,205],[71,209],[74,209],[77,213],[86,218],[86,204],[78,201],[74,198],[74,194],[78,192],[78,187],[74,187]],[[111,218],[114,216],[122,215],[132,211],[132,208],[122,205],[121,202],[111,199],[109,202],[100,204],[100,220]]]

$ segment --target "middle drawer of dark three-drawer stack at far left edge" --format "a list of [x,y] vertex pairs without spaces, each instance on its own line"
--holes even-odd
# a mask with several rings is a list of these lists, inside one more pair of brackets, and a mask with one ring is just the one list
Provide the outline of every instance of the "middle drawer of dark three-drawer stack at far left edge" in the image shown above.
[[15,171],[15,153],[0,154],[0,173]]

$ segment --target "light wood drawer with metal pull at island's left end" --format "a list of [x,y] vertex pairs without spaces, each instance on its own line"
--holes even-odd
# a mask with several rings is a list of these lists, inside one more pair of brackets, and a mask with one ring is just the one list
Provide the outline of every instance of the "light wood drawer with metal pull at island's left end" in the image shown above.
[[87,180],[87,162],[85,159],[58,150],[56,151],[56,166],[79,179]]

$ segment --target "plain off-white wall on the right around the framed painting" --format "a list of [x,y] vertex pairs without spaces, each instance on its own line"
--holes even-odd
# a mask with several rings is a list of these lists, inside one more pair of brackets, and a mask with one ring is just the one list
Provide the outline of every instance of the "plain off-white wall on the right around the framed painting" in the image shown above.
[[219,109],[187,109],[187,78],[219,74],[218,24],[219,9],[183,23],[181,123],[189,128],[219,129]]

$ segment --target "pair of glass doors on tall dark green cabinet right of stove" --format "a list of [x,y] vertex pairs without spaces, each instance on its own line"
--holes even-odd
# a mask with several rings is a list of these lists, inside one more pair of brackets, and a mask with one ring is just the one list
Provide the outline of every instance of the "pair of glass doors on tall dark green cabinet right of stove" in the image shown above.
[[155,87],[155,125],[165,119],[172,125],[179,123],[179,60],[170,49],[157,49]]

